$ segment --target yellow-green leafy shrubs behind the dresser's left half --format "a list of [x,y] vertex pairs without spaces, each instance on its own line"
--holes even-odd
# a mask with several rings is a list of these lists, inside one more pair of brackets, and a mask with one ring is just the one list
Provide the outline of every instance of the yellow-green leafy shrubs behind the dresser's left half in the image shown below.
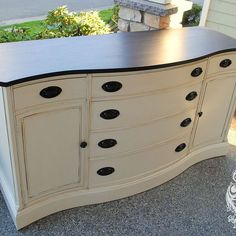
[[95,35],[110,33],[110,27],[99,17],[96,11],[69,12],[66,6],[58,7],[48,13],[40,30],[32,32],[27,27],[0,28],[0,43]]

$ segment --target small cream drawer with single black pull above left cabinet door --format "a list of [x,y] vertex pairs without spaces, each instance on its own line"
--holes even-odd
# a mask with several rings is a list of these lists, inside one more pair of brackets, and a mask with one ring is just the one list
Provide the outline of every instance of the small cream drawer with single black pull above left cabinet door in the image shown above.
[[15,109],[86,96],[85,78],[53,80],[14,89]]

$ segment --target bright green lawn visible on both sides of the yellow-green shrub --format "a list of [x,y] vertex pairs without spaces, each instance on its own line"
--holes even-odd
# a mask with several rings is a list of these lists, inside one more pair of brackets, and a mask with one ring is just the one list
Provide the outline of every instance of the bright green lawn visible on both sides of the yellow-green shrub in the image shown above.
[[[99,12],[100,18],[107,24],[109,24],[109,22],[111,21],[112,14],[113,14],[112,9],[106,9]],[[7,29],[11,29],[12,27],[29,28],[29,34],[33,35],[43,30],[44,20],[28,21],[28,22],[24,22],[20,24],[0,26],[0,30],[7,30]]]

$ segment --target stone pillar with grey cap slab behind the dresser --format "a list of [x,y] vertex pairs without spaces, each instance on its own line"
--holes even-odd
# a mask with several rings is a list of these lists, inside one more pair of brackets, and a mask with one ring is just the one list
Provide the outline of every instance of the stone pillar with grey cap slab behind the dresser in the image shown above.
[[176,5],[180,5],[174,5],[171,1],[186,2],[185,0],[114,0],[115,4],[120,6],[119,30],[133,32],[169,28],[171,16],[178,11]]

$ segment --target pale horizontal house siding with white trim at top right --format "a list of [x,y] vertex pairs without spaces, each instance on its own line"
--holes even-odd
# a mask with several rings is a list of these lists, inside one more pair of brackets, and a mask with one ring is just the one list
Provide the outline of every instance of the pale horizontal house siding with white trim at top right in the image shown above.
[[205,5],[209,8],[203,10],[201,25],[236,38],[236,0],[211,0]]

